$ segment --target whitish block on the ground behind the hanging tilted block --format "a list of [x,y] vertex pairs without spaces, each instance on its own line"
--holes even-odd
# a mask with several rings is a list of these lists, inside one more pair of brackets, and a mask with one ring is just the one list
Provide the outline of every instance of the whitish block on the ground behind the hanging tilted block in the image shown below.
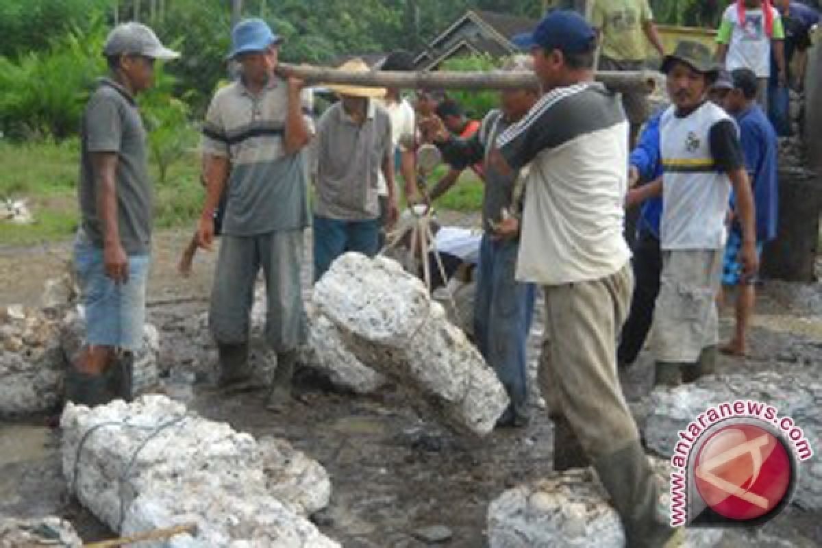
[[308,307],[308,343],[300,363],[312,368],[340,389],[355,394],[372,394],[386,384],[386,377],[363,365],[346,347],[336,325]]

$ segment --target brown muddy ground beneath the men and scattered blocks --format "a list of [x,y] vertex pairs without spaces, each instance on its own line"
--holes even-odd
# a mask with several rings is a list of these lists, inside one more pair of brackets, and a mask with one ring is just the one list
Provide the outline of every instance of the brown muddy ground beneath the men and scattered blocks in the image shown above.
[[[173,325],[207,306],[215,255],[198,256],[192,279],[179,279],[175,271],[178,253],[189,237],[190,233],[173,231],[155,239],[150,321],[161,330],[164,344],[187,344],[174,338]],[[60,273],[70,251],[70,243],[0,248],[0,306],[36,305],[44,280]],[[819,366],[822,291],[817,284],[765,284],[758,312],[750,357],[723,358],[724,370],[785,372]],[[729,325],[727,318],[723,320],[723,334]],[[537,316],[532,361],[538,356],[541,332]],[[647,393],[650,366],[651,357],[644,352],[626,376],[630,399]],[[415,532],[430,525],[450,528],[453,536],[447,546],[486,546],[487,504],[506,488],[551,471],[552,427],[536,405],[536,394],[527,428],[469,440],[421,420],[400,387],[355,397],[303,376],[298,401],[284,414],[267,412],[261,392],[225,396],[205,385],[169,389],[205,417],[229,421],[253,435],[284,437],[322,463],[334,492],[329,509],[314,519],[344,546],[427,546]],[[44,422],[44,417],[31,417],[0,425],[0,516],[59,515],[71,520],[85,541],[113,536],[67,495],[59,433],[48,430]],[[820,518],[819,513],[791,507],[751,546],[822,546]]]

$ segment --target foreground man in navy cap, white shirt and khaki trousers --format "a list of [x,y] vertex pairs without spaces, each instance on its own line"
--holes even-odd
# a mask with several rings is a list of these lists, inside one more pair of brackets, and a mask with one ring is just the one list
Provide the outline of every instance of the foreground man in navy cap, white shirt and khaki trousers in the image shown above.
[[626,546],[666,546],[675,531],[658,513],[660,482],[617,379],[633,283],[622,237],[629,124],[619,94],[593,81],[596,38],[581,16],[550,13],[533,43],[546,94],[496,143],[499,163],[530,163],[517,279],[545,291],[539,382],[566,447],[554,468],[592,462]]

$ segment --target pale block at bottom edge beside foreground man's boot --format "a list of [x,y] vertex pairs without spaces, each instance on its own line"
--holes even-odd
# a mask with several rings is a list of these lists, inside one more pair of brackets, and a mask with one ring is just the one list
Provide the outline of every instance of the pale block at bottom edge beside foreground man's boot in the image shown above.
[[[667,463],[656,461],[654,467],[663,472]],[[625,532],[607,500],[593,468],[555,472],[543,481],[506,490],[488,507],[488,546],[623,548]],[[661,519],[666,511],[661,505]],[[716,546],[723,534],[721,529],[688,529],[683,546]]]

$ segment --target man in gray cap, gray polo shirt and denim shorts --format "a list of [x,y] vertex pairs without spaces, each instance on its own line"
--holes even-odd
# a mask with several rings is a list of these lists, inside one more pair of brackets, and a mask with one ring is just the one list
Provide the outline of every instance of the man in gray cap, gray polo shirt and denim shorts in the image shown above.
[[111,73],[91,94],[81,127],[82,219],[74,257],[86,345],[66,380],[67,399],[86,405],[132,396],[151,244],[145,130],[134,96],[152,84],[155,59],[179,56],[139,23],[112,30],[104,55]]

